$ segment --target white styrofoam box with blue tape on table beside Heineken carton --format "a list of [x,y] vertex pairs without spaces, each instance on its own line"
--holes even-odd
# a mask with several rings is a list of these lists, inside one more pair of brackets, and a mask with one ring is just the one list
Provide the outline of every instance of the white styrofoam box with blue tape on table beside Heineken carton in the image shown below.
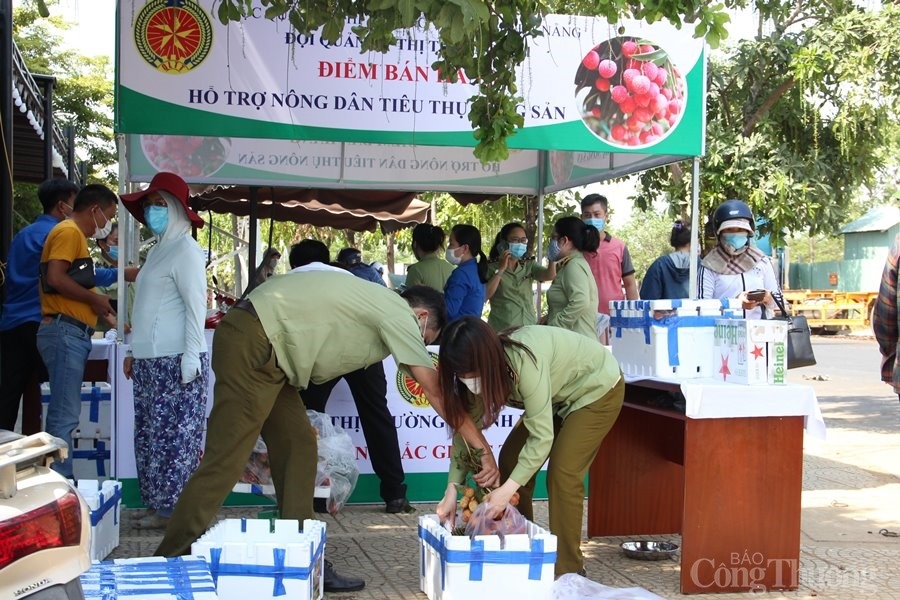
[[610,345],[622,372],[660,379],[713,377],[715,319],[740,318],[736,300],[615,300]]

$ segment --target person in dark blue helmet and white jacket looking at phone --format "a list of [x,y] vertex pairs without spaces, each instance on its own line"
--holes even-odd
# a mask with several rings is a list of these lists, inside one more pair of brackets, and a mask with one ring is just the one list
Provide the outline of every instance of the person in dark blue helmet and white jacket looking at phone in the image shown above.
[[[755,224],[753,211],[740,200],[726,200],[713,213],[717,243],[700,264],[700,298],[738,298],[748,319],[763,318],[774,309],[772,294],[780,294],[769,257],[750,243]],[[747,293],[765,290],[760,298]]]

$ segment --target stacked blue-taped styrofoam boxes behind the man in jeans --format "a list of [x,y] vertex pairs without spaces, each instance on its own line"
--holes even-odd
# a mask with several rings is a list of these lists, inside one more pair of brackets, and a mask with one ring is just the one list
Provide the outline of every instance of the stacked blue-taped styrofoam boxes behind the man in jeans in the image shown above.
[[[76,480],[106,479],[109,477],[109,459],[112,448],[112,394],[106,382],[81,384],[81,416],[78,427],[72,432],[72,472]],[[50,404],[50,386],[41,386],[41,402],[44,423],[47,423],[47,407]]]

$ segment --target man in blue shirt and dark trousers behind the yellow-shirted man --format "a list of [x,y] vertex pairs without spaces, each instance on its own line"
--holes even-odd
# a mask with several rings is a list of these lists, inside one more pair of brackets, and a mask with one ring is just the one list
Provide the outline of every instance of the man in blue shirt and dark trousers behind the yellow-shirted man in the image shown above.
[[[22,433],[41,431],[41,381],[47,374],[35,343],[41,322],[38,266],[53,226],[72,214],[78,186],[61,177],[38,187],[44,214],[13,238],[0,309],[0,429],[12,431],[22,399]],[[23,397],[24,394],[24,397]]]

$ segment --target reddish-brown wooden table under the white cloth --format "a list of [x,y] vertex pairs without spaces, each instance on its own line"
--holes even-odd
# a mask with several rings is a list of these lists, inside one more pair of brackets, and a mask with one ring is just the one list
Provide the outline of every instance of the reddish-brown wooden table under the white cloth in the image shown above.
[[684,594],[796,589],[804,417],[689,418],[648,405],[678,388],[626,386],[591,467],[588,535],[680,533]]

